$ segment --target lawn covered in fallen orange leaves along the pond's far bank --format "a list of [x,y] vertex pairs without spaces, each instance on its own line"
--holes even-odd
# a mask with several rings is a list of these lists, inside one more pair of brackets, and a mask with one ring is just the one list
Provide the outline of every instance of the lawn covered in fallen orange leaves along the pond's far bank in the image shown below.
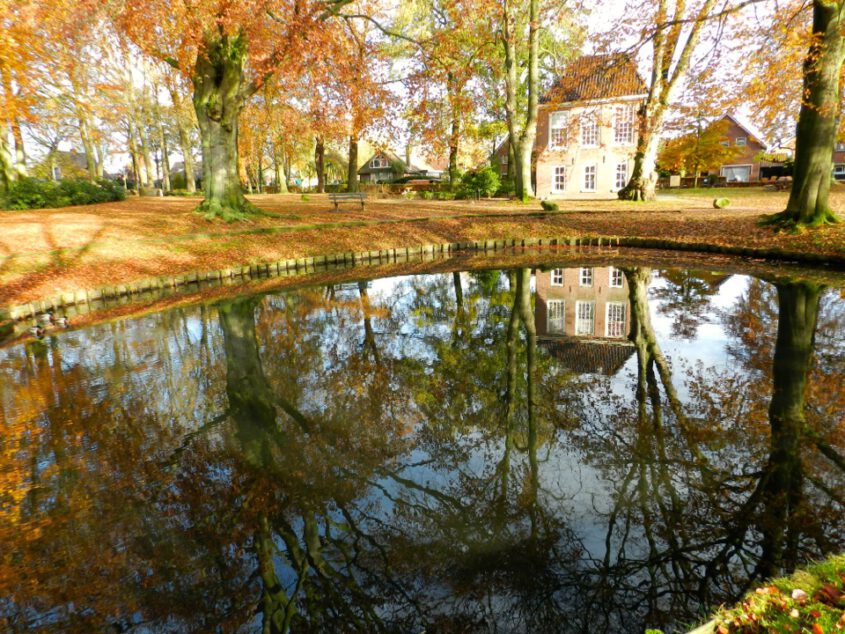
[[[713,198],[733,204],[716,210]],[[524,237],[603,236],[664,241],[684,248],[780,250],[845,262],[845,224],[803,234],[757,225],[783,209],[787,195],[760,188],[699,190],[655,203],[505,200],[423,201],[368,198],[335,212],[326,195],[250,197],[264,213],[247,222],[207,222],[198,198],[132,198],[62,209],[0,212],[0,306],[161,275],[210,271],[287,258],[421,244]],[[832,194],[845,216],[845,189]],[[668,241],[668,242],[667,242]],[[769,253],[771,255],[771,253]]]

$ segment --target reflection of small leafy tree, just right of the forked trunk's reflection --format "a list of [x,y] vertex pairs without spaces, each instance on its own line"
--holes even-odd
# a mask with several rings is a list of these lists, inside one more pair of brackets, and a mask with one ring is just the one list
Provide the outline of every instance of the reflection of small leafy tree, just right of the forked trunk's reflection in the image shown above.
[[660,272],[663,284],[652,289],[661,314],[672,318],[672,335],[695,339],[698,327],[706,323],[710,302],[729,277],[720,273],[690,269]]

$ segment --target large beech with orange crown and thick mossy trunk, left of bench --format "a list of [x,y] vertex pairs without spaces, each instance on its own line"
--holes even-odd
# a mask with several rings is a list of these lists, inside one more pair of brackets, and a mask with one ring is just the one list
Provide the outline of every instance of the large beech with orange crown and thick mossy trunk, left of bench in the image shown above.
[[250,210],[238,177],[238,117],[273,75],[326,55],[330,19],[346,0],[152,0],[119,6],[115,23],[145,52],[190,78],[208,217]]

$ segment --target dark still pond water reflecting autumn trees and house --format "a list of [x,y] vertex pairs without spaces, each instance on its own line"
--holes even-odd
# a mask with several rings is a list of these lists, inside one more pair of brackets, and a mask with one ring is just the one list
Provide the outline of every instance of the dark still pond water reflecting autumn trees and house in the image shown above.
[[845,549],[843,285],[417,275],[6,347],[0,629],[683,631]]

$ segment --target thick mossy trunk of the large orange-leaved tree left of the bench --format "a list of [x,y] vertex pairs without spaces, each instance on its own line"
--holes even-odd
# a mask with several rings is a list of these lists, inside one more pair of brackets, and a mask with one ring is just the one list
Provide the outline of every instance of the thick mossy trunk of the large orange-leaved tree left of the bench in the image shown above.
[[249,96],[245,88],[245,44],[238,36],[206,42],[191,81],[194,110],[202,139],[203,193],[206,217],[242,218],[252,210],[238,175],[238,116]]

